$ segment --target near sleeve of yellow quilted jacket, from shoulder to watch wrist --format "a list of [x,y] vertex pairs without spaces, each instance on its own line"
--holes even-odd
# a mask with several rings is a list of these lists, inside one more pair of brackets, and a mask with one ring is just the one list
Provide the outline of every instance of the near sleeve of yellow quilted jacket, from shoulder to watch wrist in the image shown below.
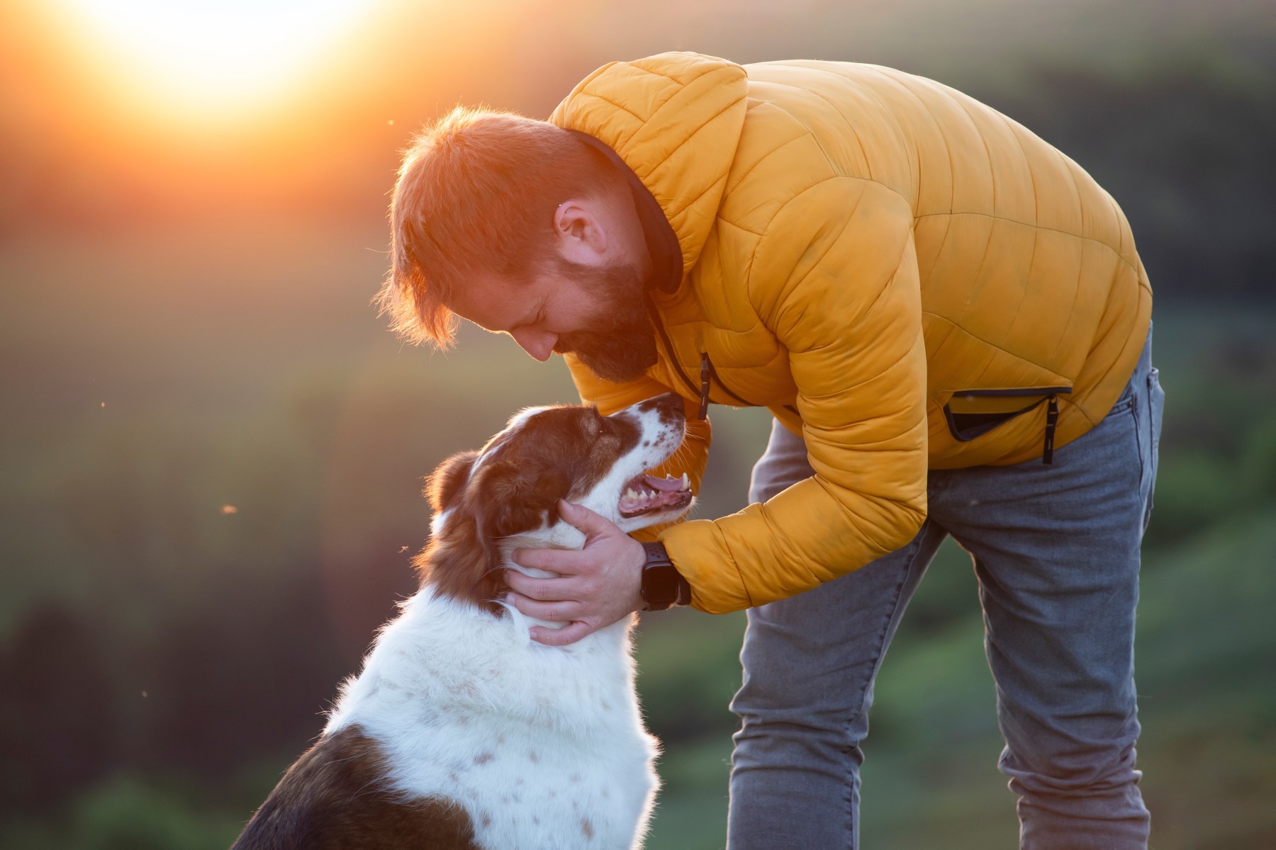
[[831,177],[786,203],[748,277],[789,350],[815,475],[768,502],[661,535],[709,613],[809,590],[905,545],[926,514],[926,357],[912,210]]

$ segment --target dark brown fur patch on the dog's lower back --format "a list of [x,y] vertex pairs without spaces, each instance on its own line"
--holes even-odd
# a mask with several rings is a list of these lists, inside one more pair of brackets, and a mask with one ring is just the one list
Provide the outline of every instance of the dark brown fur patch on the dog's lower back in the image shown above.
[[478,850],[453,800],[404,799],[357,726],[322,739],[271,791],[231,850]]

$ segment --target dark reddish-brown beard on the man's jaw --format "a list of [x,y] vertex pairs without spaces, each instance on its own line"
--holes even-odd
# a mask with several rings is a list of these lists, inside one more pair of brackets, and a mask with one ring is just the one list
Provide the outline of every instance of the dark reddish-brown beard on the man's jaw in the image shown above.
[[656,329],[647,312],[647,282],[637,264],[598,270],[561,261],[560,271],[584,283],[598,298],[595,328],[561,334],[554,350],[575,354],[604,381],[633,381],[656,364]]

